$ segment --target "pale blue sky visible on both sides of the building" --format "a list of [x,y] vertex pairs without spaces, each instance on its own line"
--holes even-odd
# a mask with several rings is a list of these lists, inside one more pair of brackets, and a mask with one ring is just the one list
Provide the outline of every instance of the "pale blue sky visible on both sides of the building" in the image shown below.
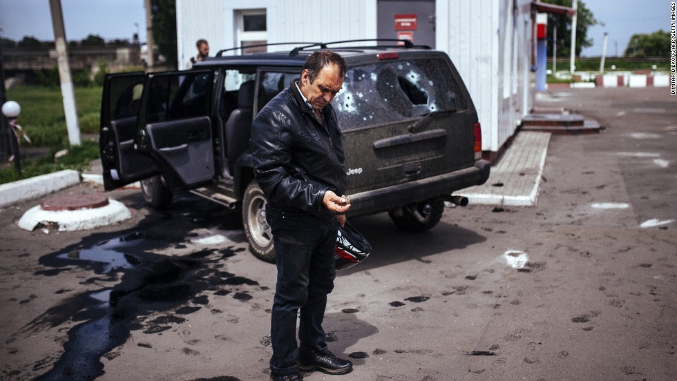
[[[290,1],[295,3],[294,0]],[[630,37],[635,33],[670,30],[668,0],[581,1],[605,24],[594,26],[588,31],[588,37],[594,40],[594,45],[582,52],[584,56],[602,54],[604,32],[609,33],[607,55],[613,56],[617,53],[622,55]],[[137,31],[141,41],[146,39],[144,0],[61,0],[61,7],[64,12],[66,39],[69,41],[82,40],[88,35],[131,40]],[[23,36],[52,41],[54,32],[49,1],[0,0],[0,28],[2,37],[15,41]]]

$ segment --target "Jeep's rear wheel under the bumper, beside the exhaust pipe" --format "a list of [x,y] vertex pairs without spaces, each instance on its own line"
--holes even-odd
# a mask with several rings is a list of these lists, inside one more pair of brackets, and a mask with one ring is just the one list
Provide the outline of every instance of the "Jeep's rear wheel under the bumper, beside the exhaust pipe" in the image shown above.
[[437,225],[442,218],[442,213],[444,213],[444,200],[434,198],[394,209],[388,212],[388,215],[392,222],[403,231],[423,233]]

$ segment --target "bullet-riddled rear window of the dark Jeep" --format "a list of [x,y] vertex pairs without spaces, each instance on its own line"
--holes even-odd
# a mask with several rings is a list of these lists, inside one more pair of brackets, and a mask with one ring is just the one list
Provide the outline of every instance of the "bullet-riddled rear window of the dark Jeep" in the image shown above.
[[447,62],[435,58],[354,66],[334,98],[342,130],[465,107]]

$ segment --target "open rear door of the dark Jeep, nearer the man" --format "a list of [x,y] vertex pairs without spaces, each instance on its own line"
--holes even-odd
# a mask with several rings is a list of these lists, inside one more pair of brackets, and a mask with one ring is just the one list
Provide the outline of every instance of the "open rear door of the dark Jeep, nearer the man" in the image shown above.
[[216,176],[211,126],[213,71],[149,74],[137,118],[137,150],[153,158],[172,190]]

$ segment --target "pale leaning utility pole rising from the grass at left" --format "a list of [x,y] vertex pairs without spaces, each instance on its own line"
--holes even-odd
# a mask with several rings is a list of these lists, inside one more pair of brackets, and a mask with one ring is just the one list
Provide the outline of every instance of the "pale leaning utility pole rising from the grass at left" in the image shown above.
[[66,30],[64,29],[64,14],[61,12],[61,0],[49,0],[49,8],[52,13],[59,80],[61,81],[61,96],[64,97],[64,114],[66,115],[66,127],[68,127],[68,141],[71,146],[79,146],[80,127],[77,125],[75,90],[73,89],[73,79],[70,78],[68,50],[66,50]]

